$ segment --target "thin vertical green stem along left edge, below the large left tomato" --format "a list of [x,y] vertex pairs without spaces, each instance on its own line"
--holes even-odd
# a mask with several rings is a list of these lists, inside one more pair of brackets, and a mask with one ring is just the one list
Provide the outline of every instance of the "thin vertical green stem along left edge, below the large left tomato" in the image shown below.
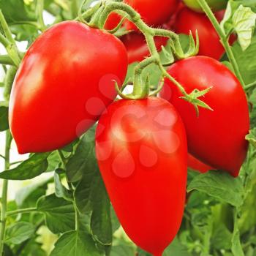
[[[6,132],[5,139],[5,161],[4,169],[8,170],[10,168],[10,146],[12,142],[12,135],[10,130]],[[4,238],[7,220],[7,191],[8,191],[8,181],[3,181],[3,187],[1,192],[1,227],[0,227],[0,255],[3,255],[4,250]]]

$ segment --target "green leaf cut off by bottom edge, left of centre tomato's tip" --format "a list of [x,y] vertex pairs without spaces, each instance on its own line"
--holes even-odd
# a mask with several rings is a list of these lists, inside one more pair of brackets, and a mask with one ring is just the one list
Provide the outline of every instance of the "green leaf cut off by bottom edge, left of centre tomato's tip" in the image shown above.
[[69,231],[64,233],[56,242],[50,256],[99,256],[99,252],[91,236],[83,231]]

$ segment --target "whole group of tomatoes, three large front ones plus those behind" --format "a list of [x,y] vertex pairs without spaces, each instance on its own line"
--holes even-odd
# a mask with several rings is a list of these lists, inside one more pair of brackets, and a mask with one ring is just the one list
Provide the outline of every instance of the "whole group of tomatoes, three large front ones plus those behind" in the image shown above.
[[[205,56],[177,61],[167,72],[188,94],[211,87],[199,99],[213,111],[200,108],[197,116],[167,79],[160,97],[113,102],[114,81],[121,86],[128,64],[149,55],[143,35],[133,31],[119,40],[67,21],[45,31],[24,56],[12,88],[10,129],[20,154],[45,152],[67,145],[99,120],[96,156],[118,219],[138,246],[160,256],[181,225],[187,159],[202,173],[220,169],[238,176],[249,112],[241,83],[216,60],[224,48],[204,14],[178,7],[176,0],[125,2],[150,26],[164,26],[174,14],[176,31],[197,29]],[[195,3],[185,1],[200,11]],[[225,1],[209,4],[219,10]],[[119,20],[110,15],[105,28],[113,29]],[[124,26],[135,25],[126,20]],[[156,37],[157,50],[166,42]]]

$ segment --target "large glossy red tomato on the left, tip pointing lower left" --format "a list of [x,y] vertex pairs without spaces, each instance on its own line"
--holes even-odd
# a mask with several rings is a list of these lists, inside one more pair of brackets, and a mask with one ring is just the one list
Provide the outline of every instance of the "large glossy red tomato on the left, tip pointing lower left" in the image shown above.
[[10,129],[20,154],[52,151],[89,129],[116,97],[127,51],[111,34],[65,21],[27,51],[10,98]]

